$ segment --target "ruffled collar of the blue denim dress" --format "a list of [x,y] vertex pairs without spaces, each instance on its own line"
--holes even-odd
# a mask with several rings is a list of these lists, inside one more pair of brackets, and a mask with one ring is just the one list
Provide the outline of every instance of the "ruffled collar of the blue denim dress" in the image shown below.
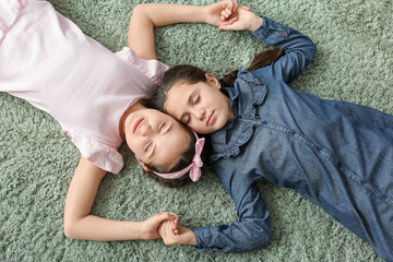
[[228,158],[239,154],[239,147],[246,144],[253,133],[255,106],[262,105],[266,87],[249,71],[240,68],[235,87],[224,87],[230,100],[235,117],[221,130],[210,135],[212,151],[210,159]]

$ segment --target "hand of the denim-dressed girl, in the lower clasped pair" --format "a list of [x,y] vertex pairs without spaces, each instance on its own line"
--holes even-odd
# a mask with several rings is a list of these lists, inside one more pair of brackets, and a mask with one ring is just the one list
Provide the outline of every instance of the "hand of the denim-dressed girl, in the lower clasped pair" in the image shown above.
[[165,245],[193,245],[196,246],[195,235],[191,229],[177,226],[177,233],[174,231],[175,221],[165,221],[158,228],[159,236]]

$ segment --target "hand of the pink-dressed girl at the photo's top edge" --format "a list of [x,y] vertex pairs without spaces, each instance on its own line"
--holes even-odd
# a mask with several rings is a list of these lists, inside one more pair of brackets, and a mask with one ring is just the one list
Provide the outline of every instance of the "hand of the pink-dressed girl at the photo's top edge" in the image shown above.
[[[215,26],[233,24],[238,20],[238,17],[233,14],[237,13],[239,8],[236,0],[219,1],[204,7],[205,22]],[[247,7],[241,8],[249,10]]]

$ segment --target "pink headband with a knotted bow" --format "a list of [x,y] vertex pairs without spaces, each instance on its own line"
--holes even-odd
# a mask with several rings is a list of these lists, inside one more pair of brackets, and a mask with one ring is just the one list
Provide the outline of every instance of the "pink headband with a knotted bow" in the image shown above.
[[201,153],[203,150],[205,139],[200,139],[198,138],[198,134],[194,131],[192,132],[196,138],[196,142],[195,142],[195,155],[193,156],[191,164],[188,167],[176,172],[162,174],[162,172],[153,171],[155,175],[165,179],[176,179],[190,171],[190,178],[193,182],[196,182],[200,179],[201,167],[203,166],[203,162],[201,159]]

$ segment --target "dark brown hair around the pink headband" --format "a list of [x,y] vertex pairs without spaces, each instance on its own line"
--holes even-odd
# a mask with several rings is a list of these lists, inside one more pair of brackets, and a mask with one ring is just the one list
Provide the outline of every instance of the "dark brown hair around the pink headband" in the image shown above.
[[187,126],[184,126],[183,123],[181,123],[182,128],[189,133],[190,136],[190,144],[187,147],[187,150],[179,156],[179,162],[169,170],[160,167],[160,166],[154,166],[154,165],[147,165],[145,164],[146,167],[150,168],[151,171],[145,171],[146,176],[151,179],[153,179],[154,181],[156,181],[157,183],[168,187],[168,188],[177,188],[177,187],[181,187],[184,186],[189,182],[191,182],[190,176],[188,176],[188,174],[186,174],[184,176],[177,178],[177,179],[165,179],[156,174],[154,174],[153,171],[156,172],[176,172],[179,171],[186,167],[188,167],[191,164],[191,160],[195,154],[195,136],[193,135],[192,131],[190,130],[190,128],[188,128]]

